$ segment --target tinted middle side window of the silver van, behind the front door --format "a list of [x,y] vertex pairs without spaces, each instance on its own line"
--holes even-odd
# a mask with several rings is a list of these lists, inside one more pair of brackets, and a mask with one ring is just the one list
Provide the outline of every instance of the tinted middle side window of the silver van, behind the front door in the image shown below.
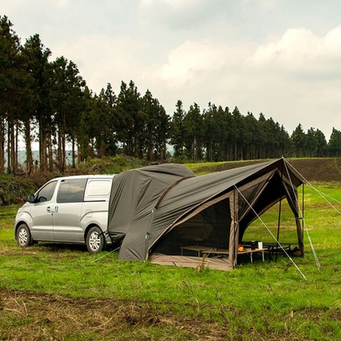
[[86,179],[62,180],[58,189],[57,202],[82,202]]

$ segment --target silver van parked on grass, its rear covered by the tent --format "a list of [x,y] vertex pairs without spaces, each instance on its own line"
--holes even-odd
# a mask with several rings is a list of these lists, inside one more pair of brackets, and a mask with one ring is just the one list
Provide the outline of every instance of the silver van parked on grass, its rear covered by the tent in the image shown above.
[[28,196],[15,217],[15,239],[20,247],[37,241],[86,244],[90,253],[110,240],[107,211],[114,175],[76,175],[46,182]]

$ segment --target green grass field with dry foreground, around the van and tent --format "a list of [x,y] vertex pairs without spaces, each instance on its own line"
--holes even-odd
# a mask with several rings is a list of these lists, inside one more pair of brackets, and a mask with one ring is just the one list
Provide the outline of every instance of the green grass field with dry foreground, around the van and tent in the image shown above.
[[[315,184],[341,202],[340,183]],[[0,208],[0,340],[341,340],[341,204],[305,189],[306,256],[239,259],[230,272],[117,261],[85,247],[17,247]],[[262,216],[277,234],[278,207]],[[285,202],[280,241],[295,243]],[[259,220],[245,240],[272,241]],[[100,258],[103,256],[103,258]]]

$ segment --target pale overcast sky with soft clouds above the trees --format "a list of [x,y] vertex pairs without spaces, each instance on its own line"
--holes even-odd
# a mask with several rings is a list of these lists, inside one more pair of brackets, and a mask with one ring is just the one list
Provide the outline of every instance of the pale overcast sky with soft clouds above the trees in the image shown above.
[[173,115],[222,105],[291,134],[341,130],[341,0],[1,0],[24,44],[78,65],[98,93],[133,80]]

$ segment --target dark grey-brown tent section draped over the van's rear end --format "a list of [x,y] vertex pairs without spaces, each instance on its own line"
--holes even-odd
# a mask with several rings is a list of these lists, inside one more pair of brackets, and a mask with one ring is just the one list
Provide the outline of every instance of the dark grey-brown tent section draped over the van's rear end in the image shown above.
[[195,174],[179,164],[132,169],[116,175],[109,202],[108,231],[122,241],[120,259],[144,259],[152,210],[168,186]]

